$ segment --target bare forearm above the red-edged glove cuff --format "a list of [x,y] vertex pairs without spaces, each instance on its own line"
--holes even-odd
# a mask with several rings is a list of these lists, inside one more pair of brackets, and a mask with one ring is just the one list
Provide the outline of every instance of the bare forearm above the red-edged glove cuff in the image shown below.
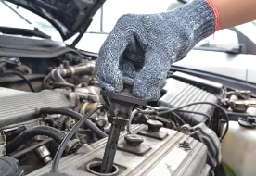
[[256,19],[256,0],[211,0],[219,13],[219,29]]

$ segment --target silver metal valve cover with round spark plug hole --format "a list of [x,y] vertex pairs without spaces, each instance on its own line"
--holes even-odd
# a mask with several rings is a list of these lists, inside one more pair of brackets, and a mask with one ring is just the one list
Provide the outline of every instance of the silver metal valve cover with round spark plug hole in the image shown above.
[[[149,132],[146,125],[133,125],[134,134],[143,136],[139,146],[127,145],[126,132],[122,132],[114,165],[118,175],[183,175],[207,176],[210,166],[207,162],[207,147],[181,132],[160,128],[159,132]],[[84,145],[86,150],[60,160],[59,172],[75,176],[105,175],[86,169],[89,163],[101,161],[107,138],[92,145]],[[51,165],[33,171],[28,176],[39,176],[49,172]],[[95,170],[97,171],[97,170]],[[116,175],[108,173],[108,175]]]

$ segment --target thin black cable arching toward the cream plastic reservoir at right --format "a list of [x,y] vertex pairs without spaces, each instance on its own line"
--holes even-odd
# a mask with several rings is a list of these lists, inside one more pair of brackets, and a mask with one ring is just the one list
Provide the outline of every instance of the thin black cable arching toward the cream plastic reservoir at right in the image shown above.
[[229,118],[228,118],[228,115],[225,113],[224,108],[217,105],[217,104],[214,104],[214,103],[211,103],[211,102],[194,102],[194,103],[186,104],[186,105],[180,106],[180,107],[169,108],[169,110],[158,112],[158,115],[160,116],[160,115],[163,115],[163,114],[166,114],[166,113],[171,113],[175,110],[179,110],[179,109],[184,108],[184,107],[189,107],[189,106],[199,105],[199,104],[208,104],[208,105],[211,105],[211,106],[214,106],[214,107],[218,107],[224,113],[224,118],[226,120],[226,128],[225,128],[225,131],[224,131],[223,135],[221,136],[221,139],[224,139],[224,136],[226,135],[226,133],[228,131],[228,128],[229,128],[229,123],[228,123]]

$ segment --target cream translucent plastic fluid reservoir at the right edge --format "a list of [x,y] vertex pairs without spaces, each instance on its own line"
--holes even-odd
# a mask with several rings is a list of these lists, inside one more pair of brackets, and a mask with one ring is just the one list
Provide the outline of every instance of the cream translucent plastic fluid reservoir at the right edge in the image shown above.
[[[222,164],[226,175],[256,175],[256,118],[229,121],[222,143]],[[225,128],[225,127],[224,127]]]

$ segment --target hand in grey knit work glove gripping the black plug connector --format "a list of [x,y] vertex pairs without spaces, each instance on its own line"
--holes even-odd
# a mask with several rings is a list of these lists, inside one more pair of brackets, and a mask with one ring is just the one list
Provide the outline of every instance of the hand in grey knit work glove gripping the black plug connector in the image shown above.
[[123,80],[134,81],[134,96],[157,100],[171,64],[216,30],[210,5],[194,0],[169,12],[123,15],[96,59],[101,87],[120,92]]

